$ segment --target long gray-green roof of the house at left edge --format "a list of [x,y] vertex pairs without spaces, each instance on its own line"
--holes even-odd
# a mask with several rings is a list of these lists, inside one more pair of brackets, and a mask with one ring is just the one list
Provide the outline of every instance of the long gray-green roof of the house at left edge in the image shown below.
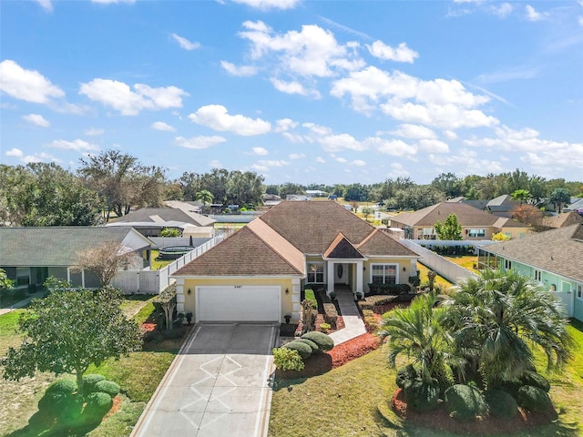
[[0,266],[73,266],[78,252],[114,241],[132,250],[150,246],[148,239],[130,227],[0,228]]

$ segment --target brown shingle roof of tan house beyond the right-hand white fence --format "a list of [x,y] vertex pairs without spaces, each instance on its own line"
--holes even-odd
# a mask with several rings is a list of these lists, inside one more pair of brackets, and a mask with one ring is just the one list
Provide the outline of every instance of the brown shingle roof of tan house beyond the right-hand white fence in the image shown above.
[[457,222],[462,226],[492,226],[498,219],[497,216],[465,203],[441,202],[418,211],[403,212],[391,218],[391,223],[402,223],[409,226],[434,226],[437,221],[443,223],[450,214],[455,214]]

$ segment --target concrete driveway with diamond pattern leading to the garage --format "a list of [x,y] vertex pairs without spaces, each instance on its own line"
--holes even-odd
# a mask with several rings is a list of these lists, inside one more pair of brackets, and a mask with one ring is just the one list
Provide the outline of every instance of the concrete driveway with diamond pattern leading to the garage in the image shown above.
[[195,327],[131,436],[267,435],[278,330],[253,323]]

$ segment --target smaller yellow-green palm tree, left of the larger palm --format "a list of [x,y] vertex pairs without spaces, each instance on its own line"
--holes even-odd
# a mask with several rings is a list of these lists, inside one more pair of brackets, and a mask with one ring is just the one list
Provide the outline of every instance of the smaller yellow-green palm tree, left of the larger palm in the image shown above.
[[406,354],[413,359],[424,382],[449,383],[449,365],[461,364],[453,354],[453,341],[441,323],[445,309],[435,307],[439,298],[435,293],[418,296],[409,308],[392,310],[383,316],[378,330],[382,339],[388,338],[389,365],[395,366],[397,356]]

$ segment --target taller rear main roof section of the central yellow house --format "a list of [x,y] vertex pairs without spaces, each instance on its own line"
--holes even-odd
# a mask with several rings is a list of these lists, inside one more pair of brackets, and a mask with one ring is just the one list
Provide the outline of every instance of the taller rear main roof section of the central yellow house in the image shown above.
[[339,232],[354,245],[374,227],[333,200],[283,201],[260,218],[304,254],[322,254]]

